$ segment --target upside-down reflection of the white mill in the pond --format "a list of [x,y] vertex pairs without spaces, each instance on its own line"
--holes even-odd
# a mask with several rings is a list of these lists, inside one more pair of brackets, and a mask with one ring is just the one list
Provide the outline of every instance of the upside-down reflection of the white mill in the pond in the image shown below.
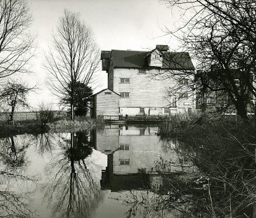
[[164,190],[157,167],[159,161],[168,162],[170,176],[193,170],[175,149],[164,151],[157,129],[156,126],[108,125],[92,132],[92,144],[108,157],[107,168],[102,170],[102,190]]

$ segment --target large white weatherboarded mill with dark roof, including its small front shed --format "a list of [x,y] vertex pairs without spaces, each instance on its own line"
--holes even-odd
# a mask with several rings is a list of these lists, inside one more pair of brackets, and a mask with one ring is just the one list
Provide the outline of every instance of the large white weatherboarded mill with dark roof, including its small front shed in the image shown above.
[[[102,70],[108,73],[108,91],[115,94],[113,98],[104,94],[106,90],[94,94],[94,108],[103,110],[94,113],[94,117],[104,115],[109,119],[107,116],[116,115],[117,111],[123,116],[150,116],[195,109],[195,93],[186,88],[188,78],[153,77],[170,70],[177,75],[180,71],[195,70],[188,52],[170,52],[168,46],[157,45],[152,51],[102,51],[101,60]],[[177,91],[179,84],[181,88]]]

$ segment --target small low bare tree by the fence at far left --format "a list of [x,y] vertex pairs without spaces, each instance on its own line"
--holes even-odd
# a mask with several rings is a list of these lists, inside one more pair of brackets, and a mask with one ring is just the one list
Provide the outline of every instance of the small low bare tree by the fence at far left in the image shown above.
[[27,104],[27,94],[35,88],[29,87],[26,83],[19,82],[7,82],[6,85],[1,90],[0,99],[8,109],[9,113],[9,122],[14,125],[14,111],[17,107],[29,107]]

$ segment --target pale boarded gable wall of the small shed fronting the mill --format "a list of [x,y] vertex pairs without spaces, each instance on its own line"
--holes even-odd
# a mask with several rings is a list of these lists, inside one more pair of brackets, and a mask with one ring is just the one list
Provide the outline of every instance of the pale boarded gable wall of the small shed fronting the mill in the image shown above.
[[[105,94],[105,92],[110,92],[112,94]],[[111,90],[102,91],[102,93],[97,94],[96,100],[96,117],[99,115],[119,115],[119,96],[113,93]]]

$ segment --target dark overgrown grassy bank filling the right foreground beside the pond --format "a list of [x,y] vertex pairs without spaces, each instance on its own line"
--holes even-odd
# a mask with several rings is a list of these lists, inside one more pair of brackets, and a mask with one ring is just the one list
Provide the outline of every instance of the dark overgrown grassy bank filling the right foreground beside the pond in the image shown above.
[[202,176],[201,188],[187,185],[183,191],[182,181],[177,181],[174,189],[193,205],[185,211],[188,217],[252,217],[256,201],[253,123],[219,120],[209,114],[178,115],[158,134],[176,141],[180,156],[193,162]]

